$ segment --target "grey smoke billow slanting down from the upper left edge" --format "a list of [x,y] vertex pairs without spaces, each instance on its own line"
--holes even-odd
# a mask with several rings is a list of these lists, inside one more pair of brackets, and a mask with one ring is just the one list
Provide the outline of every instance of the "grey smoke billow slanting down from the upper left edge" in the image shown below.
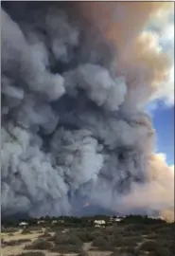
[[24,85],[43,92],[51,100],[59,99],[64,93],[61,75],[52,75],[45,69],[43,52],[27,44],[20,27],[4,10],[1,10],[1,21],[2,71],[12,77],[18,74]]

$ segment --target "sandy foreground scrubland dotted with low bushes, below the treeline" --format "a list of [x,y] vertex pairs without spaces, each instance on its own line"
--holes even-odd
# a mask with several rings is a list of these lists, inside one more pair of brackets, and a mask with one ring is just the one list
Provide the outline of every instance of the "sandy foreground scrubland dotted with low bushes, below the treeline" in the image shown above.
[[3,256],[174,256],[169,227],[9,230],[1,234]]

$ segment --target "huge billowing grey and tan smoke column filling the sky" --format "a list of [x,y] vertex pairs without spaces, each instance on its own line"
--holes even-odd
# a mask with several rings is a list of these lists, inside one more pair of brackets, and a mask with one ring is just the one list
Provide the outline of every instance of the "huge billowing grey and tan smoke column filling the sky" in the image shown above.
[[143,30],[167,5],[3,3],[3,215],[173,209],[143,110],[170,66]]

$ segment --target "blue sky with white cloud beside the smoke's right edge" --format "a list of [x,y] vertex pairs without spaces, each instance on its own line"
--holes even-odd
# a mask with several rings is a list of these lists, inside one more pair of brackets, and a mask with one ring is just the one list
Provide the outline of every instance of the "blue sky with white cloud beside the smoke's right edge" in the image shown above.
[[[152,29],[152,27],[151,27]],[[156,131],[156,153],[166,155],[166,163],[174,165],[174,12],[169,16],[169,23],[159,34],[159,46],[168,54],[172,61],[169,82],[164,86],[165,99],[149,103],[147,111],[152,118]],[[165,84],[164,84],[165,85]]]

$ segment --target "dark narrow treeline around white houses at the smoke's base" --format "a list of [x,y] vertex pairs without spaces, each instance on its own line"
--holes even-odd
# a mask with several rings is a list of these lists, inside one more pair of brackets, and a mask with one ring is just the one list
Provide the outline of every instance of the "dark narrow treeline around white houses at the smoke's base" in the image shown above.
[[[2,219],[1,224],[4,227],[18,227],[21,222],[26,222],[28,226],[42,225],[50,226],[58,225],[64,228],[87,228],[94,227],[95,220],[104,220],[105,226],[111,226],[115,222],[115,216],[106,215],[95,215],[95,216],[84,216],[84,217],[74,217],[74,216],[44,216],[41,218],[20,218],[15,220]],[[125,217],[117,217],[120,219],[120,222],[117,222],[118,225],[122,224],[164,224],[166,220],[163,219],[153,219],[149,216],[142,215],[128,215]]]

